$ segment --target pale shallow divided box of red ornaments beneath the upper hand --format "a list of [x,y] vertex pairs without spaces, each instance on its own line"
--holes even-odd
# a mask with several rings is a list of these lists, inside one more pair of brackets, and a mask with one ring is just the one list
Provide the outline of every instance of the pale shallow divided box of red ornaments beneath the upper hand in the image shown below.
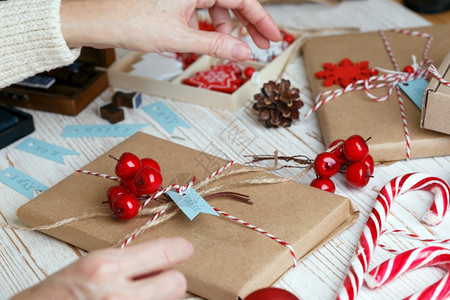
[[306,35],[291,32],[296,40],[286,50],[268,64],[247,61],[239,63],[241,66],[252,66],[260,73],[260,83],[253,84],[250,80],[243,84],[232,94],[196,88],[182,83],[182,79],[193,76],[197,71],[210,69],[211,65],[222,61],[203,55],[180,76],[171,81],[161,81],[142,76],[131,75],[129,72],[133,64],[141,60],[145,53],[131,52],[123,59],[116,61],[108,68],[109,83],[113,86],[133,91],[140,91],[150,95],[167,97],[175,100],[217,107],[227,110],[236,110],[246,101],[253,99],[264,83],[279,78],[293,53],[297,52]]

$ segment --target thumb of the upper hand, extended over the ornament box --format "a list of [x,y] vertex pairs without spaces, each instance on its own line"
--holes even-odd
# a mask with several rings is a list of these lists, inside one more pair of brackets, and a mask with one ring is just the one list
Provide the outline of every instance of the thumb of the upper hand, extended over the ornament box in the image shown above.
[[207,54],[210,56],[231,59],[247,60],[250,58],[250,47],[243,41],[219,32],[201,31],[187,28],[186,34],[179,40],[179,49],[187,52]]

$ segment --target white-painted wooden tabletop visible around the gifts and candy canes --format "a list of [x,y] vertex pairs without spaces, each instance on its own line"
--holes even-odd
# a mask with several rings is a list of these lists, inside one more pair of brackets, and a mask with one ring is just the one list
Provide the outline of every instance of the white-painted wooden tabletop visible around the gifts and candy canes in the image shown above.
[[[267,6],[267,9],[278,24],[299,29],[347,26],[370,31],[429,24],[392,0],[348,1],[337,7],[320,4],[271,5]],[[293,84],[300,88],[302,99],[306,102],[302,111],[308,110],[312,99],[301,57],[288,66],[284,77],[291,79]],[[61,137],[66,125],[106,124],[97,116],[97,108],[109,102],[113,92],[113,88],[106,90],[76,117],[27,111],[33,115],[36,125],[33,137],[72,149],[81,155],[66,156],[63,165],[19,151],[14,148],[16,143],[0,151],[0,169],[14,166],[50,187],[123,141],[124,138],[113,137]],[[146,95],[144,104],[161,100]],[[228,112],[169,99],[164,101],[193,127],[177,129],[174,136],[181,139],[171,137],[142,110],[126,110],[125,122],[147,122],[149,126],[142,129],[146,133],[238,162],[246,161],[242,157],[244,154],[272,153],[275,149],[283,155],[305,154],[315,157],[325,148],[315,116],[296,122],[288,129],[266,130],[255,121],[250,103],[236,112]],[[232,135],[221,134],[229,125],[237,126],[240,134],[251,142],[242,144],[238,139],[233,139]],[[210,147],[212,140],[217,147]],[[220,153],[217,153],[217,149],[220,149]],[[380,188],[393,177],[414,171],[430,173],[449,182],[449,170],[450,157],[436,157],[400,161],[390,166],[378,167],[375,178],[363,189],[349,188],[342,177],[337,177],[336,193],[352,199],[361,211],[360,218],[344,233],[303,259],[297,268],[288,271],[275,286],[287,289],[301,299],[333,299],[346,274],[349,260]],[[295,172],[296,170],[288,169],[280,175],[292,175]],[[313,172],[309,172],[299,181],[309,184],[313,176]],[[3,184],[0,184],[0,195],[0,222],[20,224],[16,210],[28,199]],[[432,195],[427,192],[405,195],[402,200],[394,203],[387,227],[407,229],[424,237],[449,238],[450,217],[433,229],[426,228],[418,221],[431,204],[431,199]],[[399,250],[424,245],[397,236],[382,237],[382,241]],[[1,228],[0,299],[7,299],[18,291],[44,280],[49,274],[72,263],[83,254],[83,251],[44,234]],[[372,265],[379,264],[391,256],[377,249]],[[432,284],[443,274],[443,271],[437,268],[427,268],[406,274],[378,290],[372,291],[363,286],[360,299],[403,298]]]

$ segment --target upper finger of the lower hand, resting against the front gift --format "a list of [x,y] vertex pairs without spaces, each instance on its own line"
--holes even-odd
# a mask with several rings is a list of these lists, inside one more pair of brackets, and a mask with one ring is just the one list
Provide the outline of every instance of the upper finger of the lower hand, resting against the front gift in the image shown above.
[[194,247],[183,238],[157,239],[122,250],[121,273],[138,277],[158,272],[189,259]]

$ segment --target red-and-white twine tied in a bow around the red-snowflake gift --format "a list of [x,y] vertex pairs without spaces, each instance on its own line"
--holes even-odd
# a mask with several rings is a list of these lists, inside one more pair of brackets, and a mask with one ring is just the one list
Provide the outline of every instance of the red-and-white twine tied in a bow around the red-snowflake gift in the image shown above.
[[[360,91],[363,90],[367,94],[369,98],[371,98],[374,101],[380,102],[380,101],[386,101],[391,96],[393,90],[396,90],[398,103],[400,106],[400,112],[402,115],[403,120],[403,129],[405,132],[405,140],[406,140],[406,158],[410,158],[410,152],[411,152],[411,143],[410,143],[410,137],[409,137],[409,131],[408,131],[408,124],[406,121],[406,114],[405,114],[405,108],[403,103],[403,98],[400,92],[400,88],[398,87],[399,83],[407,82],[411,80],[416,80],[419,78],[425,78],[430,75],[430,72],[428,71],[427,67],[432,63],[432,61],[428,58],[428,52],[430,51],[431,42],[433,40],[433,37],[430,34],[419,32],[419,31],[412,31],[412,30],[406,30],[406,29],[393,29],[392,31],[400,33],[400,34],[406,34],[411,36],[417,36],[417,37],[423,37],[427,38],[428,41],[425,45],[425,49],[423,52],[423,61],[420,64],[414,64],[413,66],[405,66],[403,69],[403,72],[400,71],[399,65],[394,57],[394,53],[392,52],[392,49],[389,45],[389,42],[384,34],[384,32],[380,31],[381,38],[383,39],[386,51],[389,54],[389,57],[391,58],[392,64],[395,67],[395,71],[391,72],[389,71],[388,74],[380,75],[380,76],[372,76],[369,79],[365,80],[358,80],[354,83],[351,83],[347,85],[345,88],[336,89],[336,90],[328,90],[325,92],[320,93],[317,95],[315,99],[315,104],[311,108],[309,112],[305,114],[305,118],[307,118],[309,115],[311,115],[313,112],[315,112],[319,107],[324,105],[325,103],[338,98],[342,96],[345,93],[354,92],[354,91]],[[384,71],[383,69],[378,68],[381,71]],[[373,89],[378,88],[389,88],[389,91],[386,96],[384,97],[378,97],[376,95],[373,95],[370,91]]]

